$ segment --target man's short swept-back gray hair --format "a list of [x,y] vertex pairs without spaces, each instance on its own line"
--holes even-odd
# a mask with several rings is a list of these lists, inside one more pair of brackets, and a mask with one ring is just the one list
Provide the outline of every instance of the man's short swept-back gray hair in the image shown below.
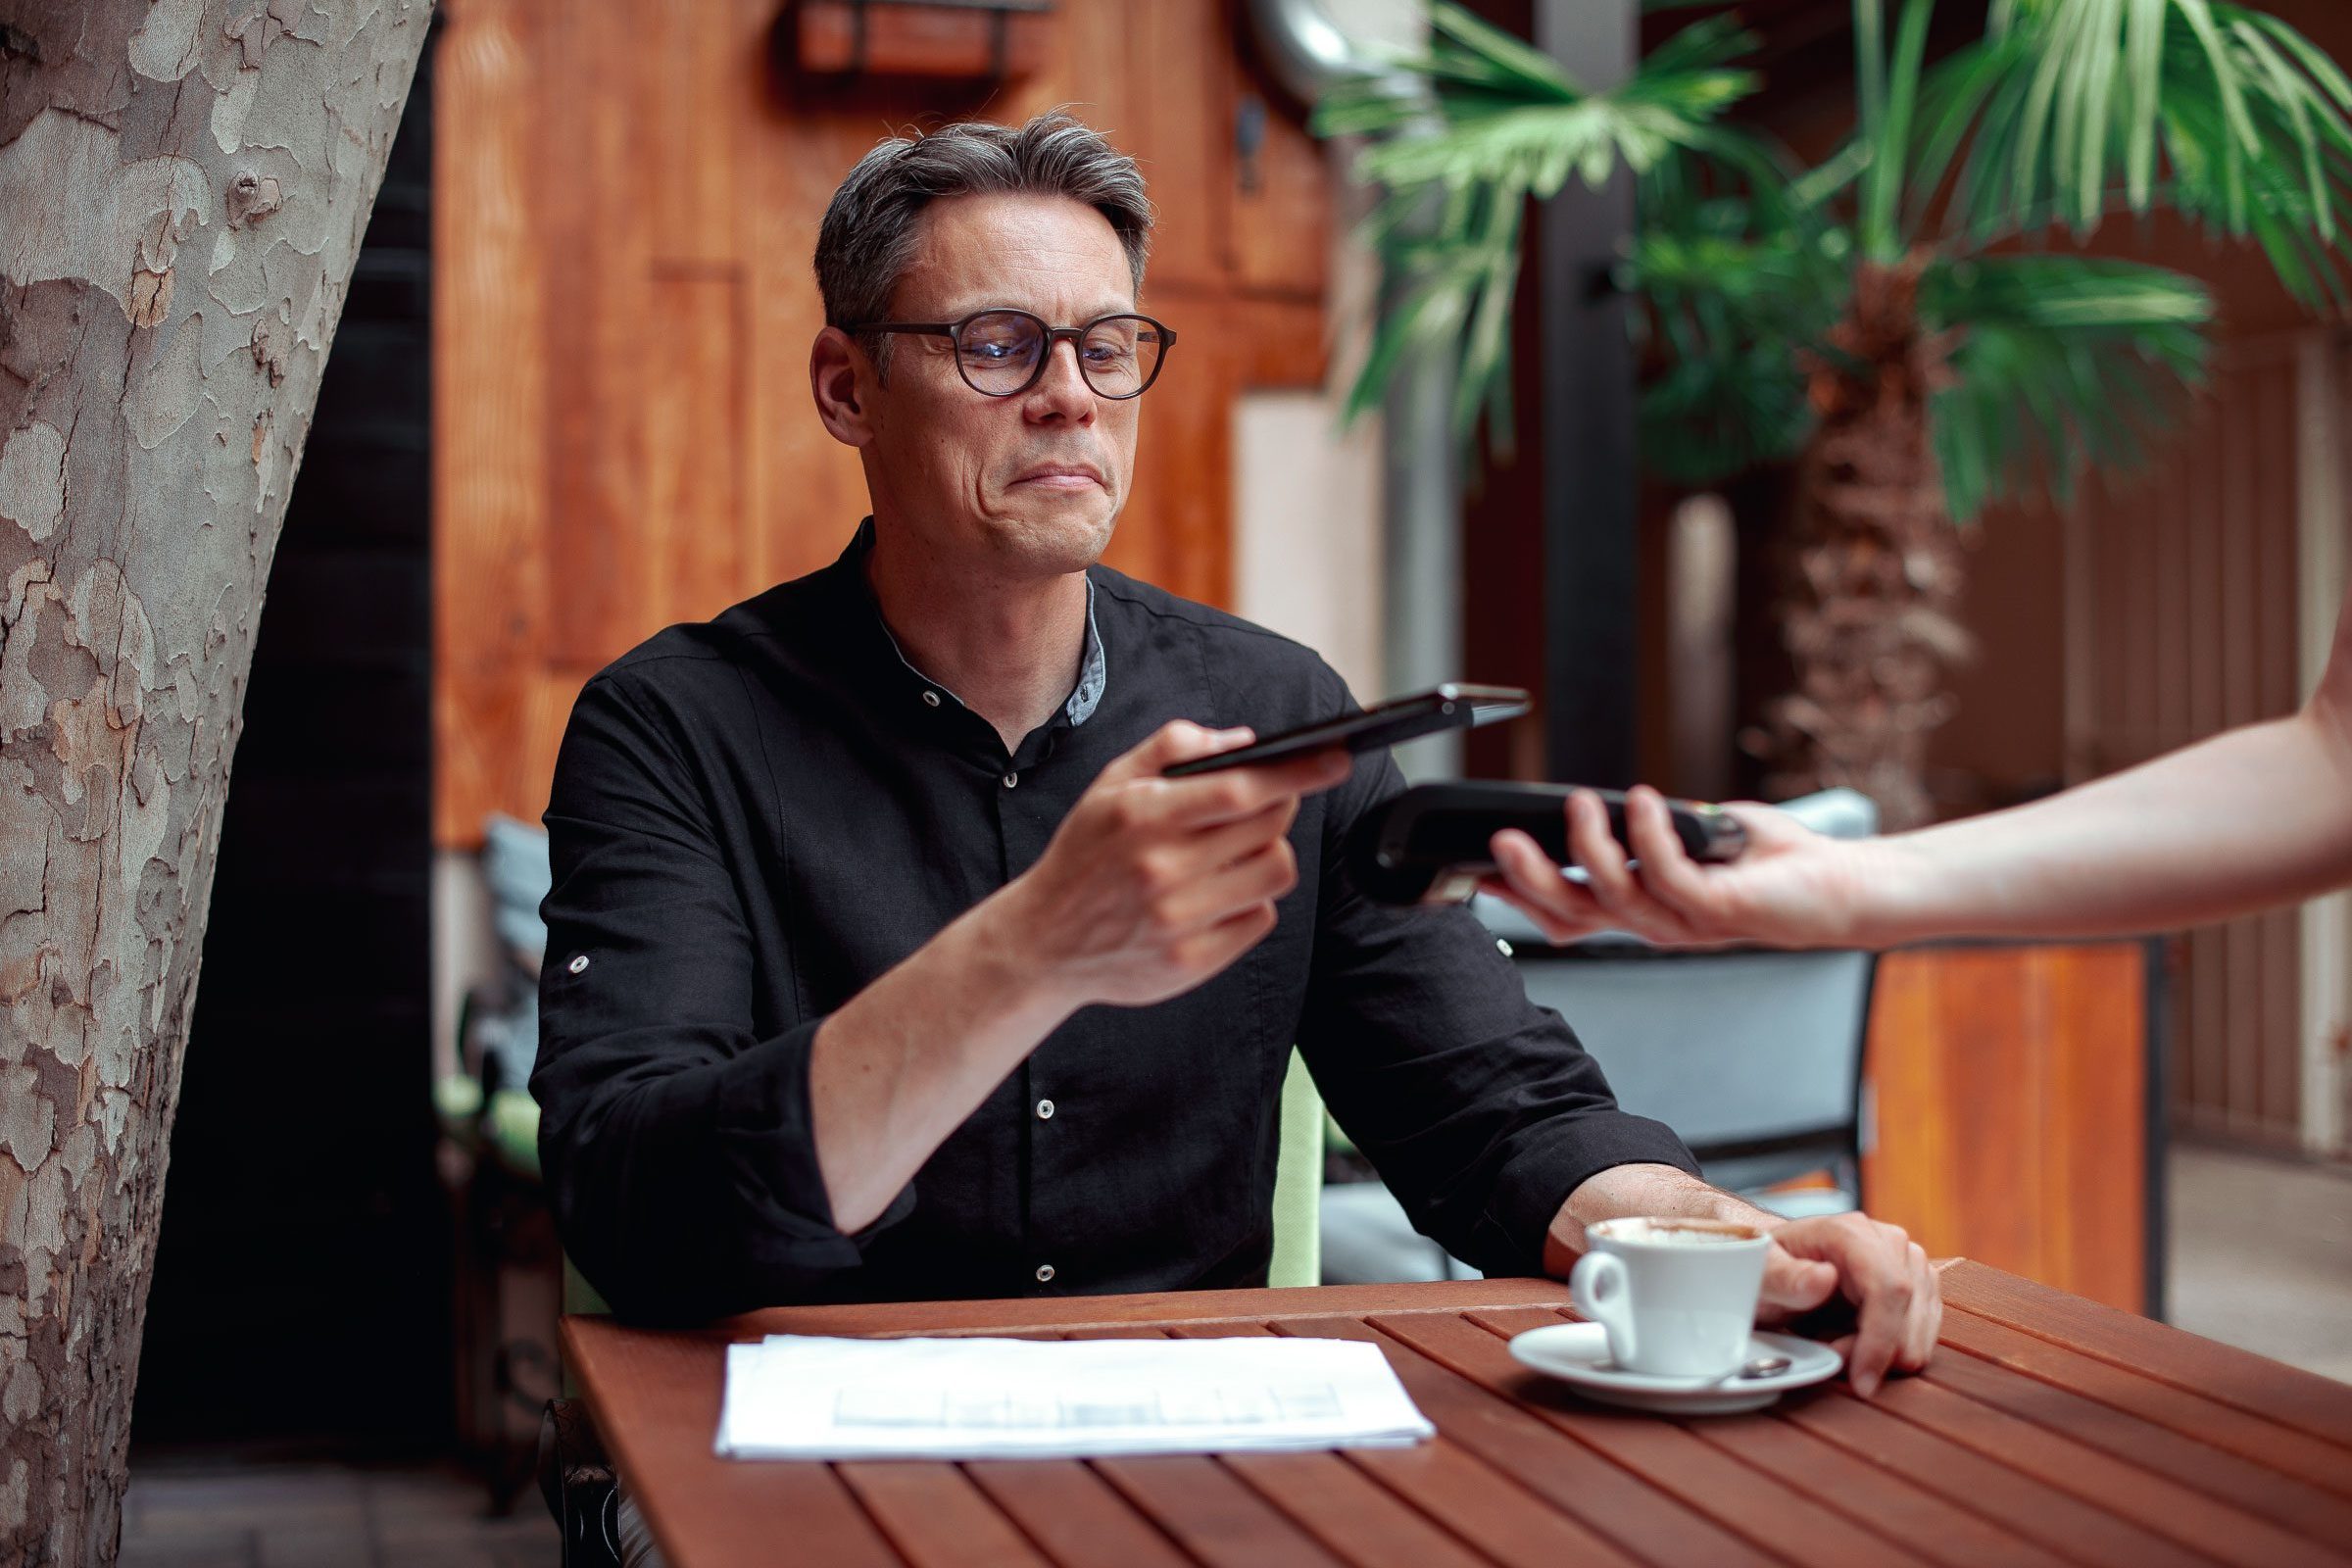
[[[1110,221],[1134,284],[1152,244],[1152,205],[1136,160],[1061,110],[1028,125],[960,120],[875,146],[833,193],[816,230],[826,322],[880,322],[915,254],[922,209],[943,195],[1065,195]],[[868,353],[880,346],[868,343]],[[880,367],[882,355],[875,353]]]

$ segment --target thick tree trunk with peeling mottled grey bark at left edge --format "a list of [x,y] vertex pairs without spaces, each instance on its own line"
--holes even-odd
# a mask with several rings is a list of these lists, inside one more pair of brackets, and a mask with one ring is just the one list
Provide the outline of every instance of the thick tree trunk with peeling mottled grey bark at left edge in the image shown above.
[[254,623],[428,12],[0,0],[5,1563],[120,1540]]

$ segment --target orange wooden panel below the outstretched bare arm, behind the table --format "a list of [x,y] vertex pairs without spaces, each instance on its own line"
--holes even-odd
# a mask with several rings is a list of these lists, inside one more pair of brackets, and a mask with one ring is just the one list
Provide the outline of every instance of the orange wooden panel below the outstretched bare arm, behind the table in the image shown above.
[[1886,954],[1870,1011],[1870,1213],[1938,1258],[2145,1309],[2143,952]]

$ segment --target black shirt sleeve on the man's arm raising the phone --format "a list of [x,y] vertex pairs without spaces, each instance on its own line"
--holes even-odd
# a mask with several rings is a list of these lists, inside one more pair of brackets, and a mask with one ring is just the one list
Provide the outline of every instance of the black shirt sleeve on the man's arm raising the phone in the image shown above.
[[602,675],[572,710],[548,804],[539,1152],[557,1232],[616,1312],[691,1321],[826,1295],[833,1222],[809,1100],[821,1018],[762,1034],[753,940],[684,750]]

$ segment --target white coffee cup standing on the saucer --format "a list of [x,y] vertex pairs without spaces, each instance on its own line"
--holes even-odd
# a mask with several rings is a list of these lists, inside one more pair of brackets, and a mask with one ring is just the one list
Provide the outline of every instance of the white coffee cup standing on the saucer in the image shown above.
[[1748,1359],[1771,1237],[1724,1220],[1630,1218],[1585,1229],[1569,1274],[1609,1359],[1651,1378],[1722,1378]]

